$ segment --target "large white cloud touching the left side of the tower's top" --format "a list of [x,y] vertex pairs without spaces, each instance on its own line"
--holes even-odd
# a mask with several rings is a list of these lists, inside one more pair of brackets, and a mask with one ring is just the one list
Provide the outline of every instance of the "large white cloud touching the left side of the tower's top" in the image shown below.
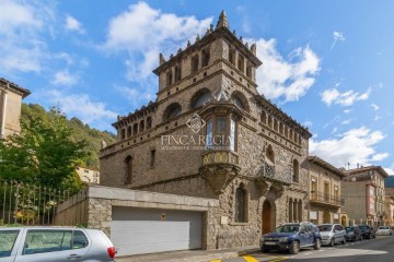
[[187,39],[205,33],[211,22],[212,17],[198,21],[195,16],[176,16],[138,2],[109,21],[106,41],[101,48],[107,52],[126,52],[127,78],[141,81],[158,66],[160,51],[169,55],[176,50]]

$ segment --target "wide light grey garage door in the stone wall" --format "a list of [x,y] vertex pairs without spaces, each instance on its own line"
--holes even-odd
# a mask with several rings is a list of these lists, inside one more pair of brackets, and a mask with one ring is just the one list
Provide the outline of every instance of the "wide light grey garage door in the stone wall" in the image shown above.
[[201,248],[200,212],[114,206],[112,215],[117,255]]

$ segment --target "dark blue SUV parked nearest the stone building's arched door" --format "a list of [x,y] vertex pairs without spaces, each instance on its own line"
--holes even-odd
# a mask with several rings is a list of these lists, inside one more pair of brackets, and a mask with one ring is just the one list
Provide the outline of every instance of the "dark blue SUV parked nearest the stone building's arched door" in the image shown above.
[[315,225],[309,222],[287,223],[277,227],[273,233],[263,235],[260,249],[263,252],[270,250],[287,250],[292,254],[300,249],[313,247],[321,248],[322,238]]

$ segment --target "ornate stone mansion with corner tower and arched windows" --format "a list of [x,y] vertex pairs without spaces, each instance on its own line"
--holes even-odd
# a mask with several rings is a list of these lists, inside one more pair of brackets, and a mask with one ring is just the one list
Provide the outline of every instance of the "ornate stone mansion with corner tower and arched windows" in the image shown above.
[[217,27],[153,72],[158,99],[114,127],[101,184],[219,201],[205,215],[207,249],[257,245],[308,217],[311,133],[257,92],[256,46]]

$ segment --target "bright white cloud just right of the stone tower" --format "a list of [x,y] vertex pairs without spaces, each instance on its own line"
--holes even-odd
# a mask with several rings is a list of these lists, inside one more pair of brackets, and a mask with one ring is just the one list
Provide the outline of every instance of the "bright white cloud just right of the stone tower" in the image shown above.
[[285,102],[298,100],[305,95],[321,70],[316,53],[309,46],[300,47],[286,60],[276,49],[275,39],[260,38],[255,43],[257,57],[263,61],[256,78],[259,93],[268,98],[283,98]]

